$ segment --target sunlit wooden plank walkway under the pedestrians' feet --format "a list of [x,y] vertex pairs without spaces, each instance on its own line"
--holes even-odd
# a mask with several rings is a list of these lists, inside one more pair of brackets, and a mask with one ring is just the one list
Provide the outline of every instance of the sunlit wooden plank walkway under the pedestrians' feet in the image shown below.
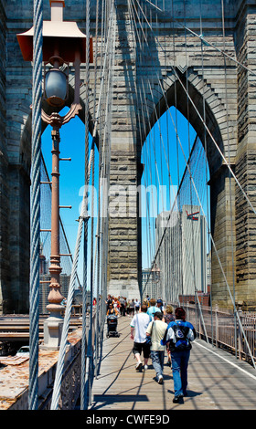
[[188,366],[187,397],[173,403],[171,369],[164,368],[164,383],[155,381],[152,361],[148,370],[135,371],[133,341],[127,316],[118,319],[120,337],[104,335],[101,368],[94,380],[91,410],[256,410],[256,371],[226,351],[195,340]]

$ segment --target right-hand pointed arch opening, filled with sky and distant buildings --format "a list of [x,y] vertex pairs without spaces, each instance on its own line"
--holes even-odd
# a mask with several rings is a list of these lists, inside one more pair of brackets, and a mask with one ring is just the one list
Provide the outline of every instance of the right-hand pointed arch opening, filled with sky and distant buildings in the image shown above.
[[182,112],[171,106],[161,113],[142,150],[143,296],[195,302],[196,291],[210,288],[207,153]]

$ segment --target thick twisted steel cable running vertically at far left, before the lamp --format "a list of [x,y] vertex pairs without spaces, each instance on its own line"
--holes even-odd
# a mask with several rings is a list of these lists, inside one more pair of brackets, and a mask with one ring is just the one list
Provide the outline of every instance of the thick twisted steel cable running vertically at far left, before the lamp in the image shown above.
[[33,89],[32,89],[32,166],[31,166],[31,247],[29,290],[29,386],[28,408],[38,406],[38,338],[39,338],[39,247],[40,247],[40,163],[43,2],[34,0]]

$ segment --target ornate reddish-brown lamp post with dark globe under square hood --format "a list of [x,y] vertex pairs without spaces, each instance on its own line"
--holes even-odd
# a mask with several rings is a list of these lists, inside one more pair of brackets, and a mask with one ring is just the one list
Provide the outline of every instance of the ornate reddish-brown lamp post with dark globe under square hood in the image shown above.
[[[63,318],[60,305],[63,297],[60,294],[59,276],[61,273],[59,254],[59,130],[65,123],[74,118],[80,111],[80,63],[86,61],[86,36],[80,32],[74,22],[63,21],[64,0],[49,0],[51,8],[50,21],[43,22],[43,62],[44,93],[48,105],[57,111],[48,115],[42,110],[42,120],[51,125],[52,131],[52,181],[51,181],[51,255],[50,284],[48,294],[49,317],[44,326],[44,346],[48,349],[59,349]],[[26,33],[17,35],[23,58],[33,60],[34,27]],[[90,62],[92,62],[92,40],[90,38]],[[68,99],[69,62],[75,70],[74,100],[65,116],[60,110]],[[60,69],[67,66],[68,73]],[[33,108],[33,106],[32,106]]]

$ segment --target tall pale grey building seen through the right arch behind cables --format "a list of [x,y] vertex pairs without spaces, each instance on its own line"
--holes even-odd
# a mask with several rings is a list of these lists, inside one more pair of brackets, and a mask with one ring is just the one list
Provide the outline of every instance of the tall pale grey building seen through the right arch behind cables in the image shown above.
[[181,213],[159,214],[155,249],[162,298],[177,301],[179,295],[193,295],[195,290],[207,292],[206,219],[199,206],[185,204]]

